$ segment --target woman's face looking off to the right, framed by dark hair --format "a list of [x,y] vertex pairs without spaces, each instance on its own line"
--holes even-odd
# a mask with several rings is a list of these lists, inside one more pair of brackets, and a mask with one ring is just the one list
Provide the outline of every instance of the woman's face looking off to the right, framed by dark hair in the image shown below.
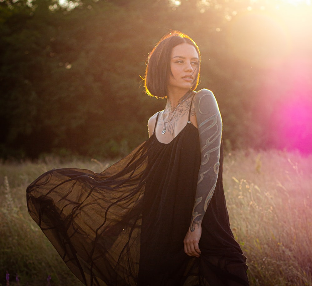
[[168,90],[188,91],[197,77],[198,54],[193,45],[183,43],[175,46],[171,52]]

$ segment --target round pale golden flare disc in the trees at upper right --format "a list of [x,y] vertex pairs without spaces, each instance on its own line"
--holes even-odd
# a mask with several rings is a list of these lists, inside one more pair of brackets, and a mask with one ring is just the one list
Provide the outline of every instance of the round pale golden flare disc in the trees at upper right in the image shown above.
[[269,13],[252,11],[232,21],[232,51],[251,67],[278,65],[290,54],[289,29]]

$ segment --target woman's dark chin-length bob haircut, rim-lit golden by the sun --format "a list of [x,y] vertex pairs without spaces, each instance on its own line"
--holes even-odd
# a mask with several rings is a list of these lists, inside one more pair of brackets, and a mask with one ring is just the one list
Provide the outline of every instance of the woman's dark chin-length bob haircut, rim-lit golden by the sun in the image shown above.
[[198,66],[196,77],[191,86],[195,90],[200,75],[200,51],[196,43],[188,36],[179,31],[172,31],[164,35],[154,49],[150,52],[145,69],[144,87],[149,96],[157,98],[167,97],[167,84],[171,72],[170,58],[172,49],[180,44],[187,43],[195,47],[198,54]]

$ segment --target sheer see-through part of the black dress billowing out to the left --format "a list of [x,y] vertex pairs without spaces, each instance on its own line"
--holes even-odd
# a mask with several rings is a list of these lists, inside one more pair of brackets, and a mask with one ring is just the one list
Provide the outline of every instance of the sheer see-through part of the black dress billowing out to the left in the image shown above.
[[30,215],[85,285],[136,285],[149,143],[100,174],[52,170],[27,188]]

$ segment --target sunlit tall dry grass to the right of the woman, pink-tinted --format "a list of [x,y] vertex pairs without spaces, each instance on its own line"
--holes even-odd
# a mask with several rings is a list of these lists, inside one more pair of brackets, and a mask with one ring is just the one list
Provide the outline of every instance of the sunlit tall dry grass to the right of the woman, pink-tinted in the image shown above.
[[312,285],[312,156],[237,151],[225,157],[231,226],[251,285]]

